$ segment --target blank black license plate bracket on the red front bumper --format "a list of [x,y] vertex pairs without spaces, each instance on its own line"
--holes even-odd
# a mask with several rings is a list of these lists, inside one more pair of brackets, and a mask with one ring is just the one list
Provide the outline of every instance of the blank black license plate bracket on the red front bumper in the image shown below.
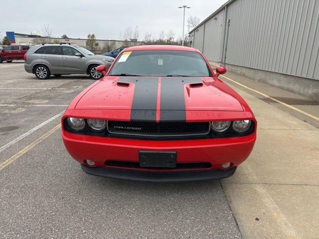
[[140,167],[175,168],[177,152],[175,151],[140,151]]

